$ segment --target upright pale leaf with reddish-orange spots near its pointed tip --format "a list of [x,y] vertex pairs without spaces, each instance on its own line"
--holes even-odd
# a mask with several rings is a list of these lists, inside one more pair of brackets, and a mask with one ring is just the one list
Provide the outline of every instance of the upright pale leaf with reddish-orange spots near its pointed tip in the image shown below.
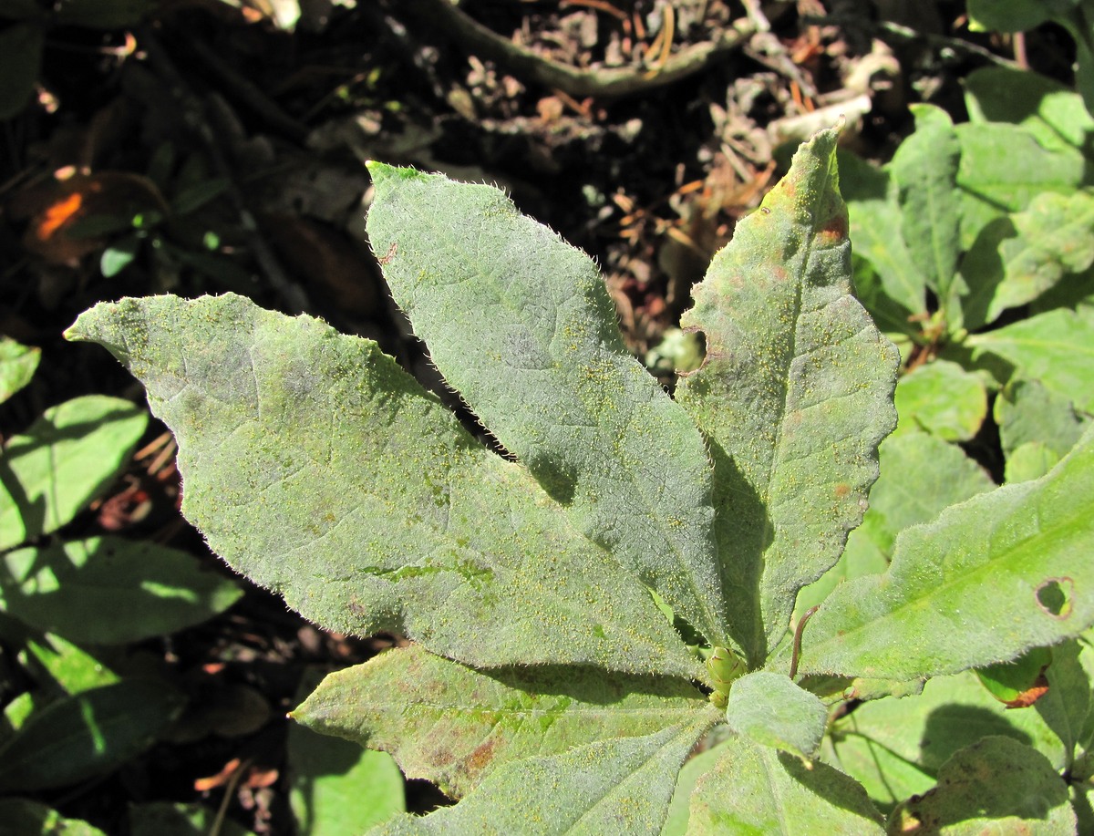
[[895,423],[899,358],[850,294],[835,144],[824,130],[802,146],[682,321],[707,339],[677,399],[710,440],[730,634],[753,665],[842,553]]

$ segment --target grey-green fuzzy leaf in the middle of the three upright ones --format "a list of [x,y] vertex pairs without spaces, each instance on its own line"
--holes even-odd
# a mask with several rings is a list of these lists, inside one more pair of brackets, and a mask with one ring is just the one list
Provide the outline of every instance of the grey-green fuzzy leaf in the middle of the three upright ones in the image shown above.
[[369,171],[372,245],[449,385],[587,536],[724,643],[702,437],[627,352],[596,265],[494,188]]

